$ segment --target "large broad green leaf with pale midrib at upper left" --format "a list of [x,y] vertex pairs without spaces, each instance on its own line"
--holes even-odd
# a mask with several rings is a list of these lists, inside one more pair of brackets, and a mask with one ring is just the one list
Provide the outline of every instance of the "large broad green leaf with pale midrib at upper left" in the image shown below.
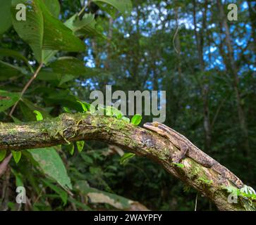
[[[27,8],[25,21],[16,20],[17,4],[25,4]],[[85,49],[83,41],[75,37],[60,20],[54,18],[42,0],[13,0],[12,18],[16,32],[20,38],[30,44],[35,58],[40,63],[47,63],[52,55],[52,51],[44,50],[83,51]]]

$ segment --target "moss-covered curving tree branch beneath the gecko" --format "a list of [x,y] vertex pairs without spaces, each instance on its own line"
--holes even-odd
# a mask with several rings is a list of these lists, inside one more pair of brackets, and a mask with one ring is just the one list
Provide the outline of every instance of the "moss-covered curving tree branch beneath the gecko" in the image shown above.
[[[176,154],[178,149],[168,139],[123,120],[90,113],[65,113],[39,122],[0,123],[1,150],[44,148],[80,140],[104,141],[157,161],[167,172],[212,200],[219,210],[254,210],[245,207],[240,200],[237,204],[228,203],[229,193],[224,184],[233,185],[217,172],[191,158],[183,160],[184,167],[173,165],[170,155]],[[210,184],[205,183],[206,180],[211,181]]]

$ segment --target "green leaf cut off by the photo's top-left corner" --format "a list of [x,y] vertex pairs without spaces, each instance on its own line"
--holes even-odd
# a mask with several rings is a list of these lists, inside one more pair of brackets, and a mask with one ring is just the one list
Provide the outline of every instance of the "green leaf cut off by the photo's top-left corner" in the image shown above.
[[0,15],[0,34],[3,34],[11,27],[11,0],[1,0]]

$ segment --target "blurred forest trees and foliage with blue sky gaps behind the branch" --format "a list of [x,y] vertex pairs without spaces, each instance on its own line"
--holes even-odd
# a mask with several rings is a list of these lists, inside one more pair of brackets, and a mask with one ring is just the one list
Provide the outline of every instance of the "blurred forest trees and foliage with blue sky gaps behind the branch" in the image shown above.
[[[238,6],[237,21],[226,18],[230,3]],[[75,57],[84,68],[75,76],[57,71],[58,65],[54,72],[43,68],[13,118],[6,110],[0,113],[1,122],[36,120],[34,110],[44,117],[58,116],[64,107],[75,113],[81,110],[78,99],[90,103],[91,91],[104,91],[106,84],[113,91],[163,90],[165,124],[245,184],[256,186],[256,1],[137,0],[126,16],[87,1],[59,4],[63,22],[83,6],[95,14],[100,34],[85,36],[85,51],[56,55]],[[0,46],[0,89],[20,92],[31,74],[24,72],[24,60],[4,49],[19,52],[36,68],[32,50],[12,26],[0,34]],[[143,116],[143,122],[151,121]],[[37,153],[24,151],[20,162],[11,160],[0,178],[1,210],[194,210],[197,192],[147,158],[135,156],[121,164],[125,149],[98,141],[86,142],[82,153],[75,147],[73,155],[68,146],[61,148],[55,148],[61,162],[52,168],[63,163],[73,189],[62,188],[63,181],[39,165],[42,158],[54,156],[47,158],[42,151],[38,160]],[[16,186],[25,186],[28,204],[15,203]],[[199,195],[197,210],[216,208]]]

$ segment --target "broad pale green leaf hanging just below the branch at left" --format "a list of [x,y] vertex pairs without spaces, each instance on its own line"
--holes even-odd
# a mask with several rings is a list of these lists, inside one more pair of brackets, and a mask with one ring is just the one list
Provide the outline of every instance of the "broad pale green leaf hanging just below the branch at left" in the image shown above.
[[44,174],[57,181],[63,188],[72,189],[66,167],[54,148],[32,149],[28,152]]

